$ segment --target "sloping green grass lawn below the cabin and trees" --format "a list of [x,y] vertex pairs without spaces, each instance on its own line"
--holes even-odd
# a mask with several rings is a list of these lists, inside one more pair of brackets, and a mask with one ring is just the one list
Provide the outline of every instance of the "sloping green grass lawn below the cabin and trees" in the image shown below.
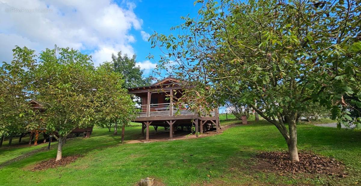
[[[239,122],[230,121],[221,123]],[[127,127],[126,140],[138,138],[140,128]],[[343,161],[349,175],[346,178],[292,178],[252,171],[250,158],[258,152],[287,149],[276,127],[260,121],[231,127],[222,134],[205,138],[123,145],[119,144],[120,135],[114,136],[108,129],[94,129],[91,138],[72,139],[64,146],[63,156],[83,155],[74,163],[32,172],[34,164],[56,155],[55,148],[39,152],[0,168],[0,185],[134,185],[148,176],[170,186],[207,182],[213,185],[348,185],[361,181],[361,132],[304,124],[297,128],[300,150]],[[0,157],[9,151],[12,149],[1,148]],[[17,155],[14,153],[14,158]]]

